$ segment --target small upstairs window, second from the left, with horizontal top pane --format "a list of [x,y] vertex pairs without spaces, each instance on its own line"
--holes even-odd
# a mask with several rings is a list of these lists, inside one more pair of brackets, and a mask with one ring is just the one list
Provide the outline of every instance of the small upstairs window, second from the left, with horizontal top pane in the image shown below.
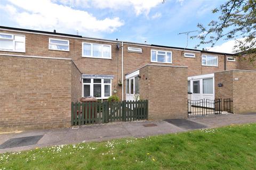
[[69,40],[49,38],[49,49],[69,51]]

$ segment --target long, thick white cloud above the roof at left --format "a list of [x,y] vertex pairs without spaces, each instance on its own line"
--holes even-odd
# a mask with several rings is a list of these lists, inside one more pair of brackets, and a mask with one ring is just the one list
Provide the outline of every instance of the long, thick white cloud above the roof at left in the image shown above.
[[[10,18],[21,27],[31,29],[61,31],[79,30],[82,33],[113,32],[124,22],[118,17],[97,19],[92,14],[76,10],[69,6],[59,5],[50,0],[9,0],[12,5],[6,5]],[[2,7],[3,8],[3,7]]]

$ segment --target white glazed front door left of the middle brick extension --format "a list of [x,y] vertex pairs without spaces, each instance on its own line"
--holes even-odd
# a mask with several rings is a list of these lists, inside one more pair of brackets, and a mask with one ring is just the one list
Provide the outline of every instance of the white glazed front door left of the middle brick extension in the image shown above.
[[137,100],[139,95],[139,77],[138,75],[125,80],[126,100]]

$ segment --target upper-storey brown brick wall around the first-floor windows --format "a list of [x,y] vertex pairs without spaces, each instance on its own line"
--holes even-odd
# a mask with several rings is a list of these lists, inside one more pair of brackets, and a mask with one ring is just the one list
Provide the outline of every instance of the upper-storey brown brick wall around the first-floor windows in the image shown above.
[[[85,38],[71,38],[60,37],[53,35],[40,35],[28,32],[6,31],[0,30],[0,32],[16,33],[18,35],[26,36],[26,53],[15,52],[0,52],[4,54],[19,54],[19,55],[34,55],[34,56],[46,56],[46,57],[65,57],[72,58],[78,69],[84,74],[109,74],[114,75],[112,81],[112,89],[117,89],[117,95],[121,98],[122,87],[117,85],[118,81],[122,79],[121,74],[121,49],[117,49],[117,41],[100,41]],[[49,38],[59,38],[69,40],[69,52],[63,52],[58,50],[49,50]],[[82,42],[99,43],[111,45],[111,60],[99,59],[99,58],[85,58],[82,57]],[[142,53],[131,53],[127,51],[127,47],[139,47],[142,48]],[[164,63],[151,63],[150,55],[151,49],[165,50],[172,52],[172,64]],[[184,57],[184,51],[173,48],[160,48],[146,45],[136,44],[124,44],[124,74],[130,73],[146,64],[159,64],[159,65],[177,65],[188,66],[188,76],[213,73],[224,70],[224,55],[201,53],[201,52],[189,52],[196,55],[195,58]],[[219,58],[218,67],[202,66],[202,54],[216,55]],[[238,62],[227,62],[227,69],[238,69]],[[124,76],[125,77],[125,76]],[[121,80],[122,81],[122,80]],[[125,83],[125,82],[124,82]],[[125,84],[124,84],[125,87]],[[125,89],[125,88],[124,88]],[[82,94],[82,93],[81,93]],[[124,93],[125,94],[125,93]],[[125,95],[124,95],[125,97]]]

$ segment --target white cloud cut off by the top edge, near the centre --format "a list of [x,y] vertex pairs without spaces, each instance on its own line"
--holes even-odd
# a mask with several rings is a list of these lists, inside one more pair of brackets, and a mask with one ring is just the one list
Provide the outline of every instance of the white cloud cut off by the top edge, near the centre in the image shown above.
[[148,15],[151,8],[161,4],[162,0],[56,0],[62,4],[69,4],[70,6],[83,6],[83,7],[94,7],[94,8],[111,8],[113,10],[131,10],[136,15],[145,14]]

